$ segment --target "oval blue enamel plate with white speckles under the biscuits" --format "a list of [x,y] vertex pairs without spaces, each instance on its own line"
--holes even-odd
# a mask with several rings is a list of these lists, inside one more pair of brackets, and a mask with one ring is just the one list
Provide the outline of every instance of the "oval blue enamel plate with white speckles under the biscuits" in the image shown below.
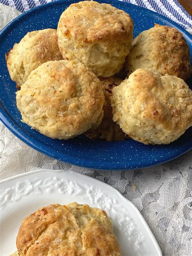
[[[0,33],[0,117],[6,127],[26,144],[47,156],[92,169],[139,169],[169,161],[191,149],[192,127],[169,145],[153,146],[143,145],[132,139],[117,142],[91,141],[83,135],[68,141],[60,141],[45,137],[21,122],[21,114],[17,110],[15,101],[17,89],[6,68],[5,53],[27,32],[57,28],[60,15],[73,2],[78,1],[57,1],[38,6],[21,14]],[[183,33],[192,53],[192,36],[170,19],[126,2],[111,0],[98,2],[112,4],[129,13],[134,20],[134,37],[143,30],[153,27],[154,23],[176,27]]]

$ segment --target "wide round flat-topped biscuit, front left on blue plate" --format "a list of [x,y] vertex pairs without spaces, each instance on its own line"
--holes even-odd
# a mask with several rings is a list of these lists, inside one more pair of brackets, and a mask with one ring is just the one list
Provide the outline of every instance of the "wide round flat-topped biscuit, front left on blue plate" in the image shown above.
[[43,63],[16,94],[23,122],[53,139],[73,138],[102,119],[102,84],[81,62]]

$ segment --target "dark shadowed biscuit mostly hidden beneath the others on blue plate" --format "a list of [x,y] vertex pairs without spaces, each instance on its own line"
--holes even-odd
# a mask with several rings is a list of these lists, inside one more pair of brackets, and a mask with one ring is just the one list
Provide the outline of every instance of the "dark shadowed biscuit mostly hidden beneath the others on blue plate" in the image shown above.
[[122,131],[118,124],[113,122],[110,96],[114,86],[119,85],[123,80],[117,77],[99,78],[105,96],[103,105],[103,119],[98,128],[88,132],[86,135],[90,139],[104,139],[106,141],[123,141],[128,136]]

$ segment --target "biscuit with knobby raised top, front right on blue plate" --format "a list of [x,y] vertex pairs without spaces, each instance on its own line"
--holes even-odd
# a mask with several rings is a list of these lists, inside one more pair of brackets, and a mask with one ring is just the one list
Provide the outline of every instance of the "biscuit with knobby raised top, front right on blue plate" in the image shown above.
[[192,126],[192,91],[180,78],[139,68],[111,97],[113,121],[144,144],[169,144]]

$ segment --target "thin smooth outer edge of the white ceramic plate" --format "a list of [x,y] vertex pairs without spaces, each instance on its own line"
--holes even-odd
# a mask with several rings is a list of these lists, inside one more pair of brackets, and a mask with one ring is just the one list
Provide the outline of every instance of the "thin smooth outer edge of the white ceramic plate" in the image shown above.
[[[149,234],[149,237],[151,237],[151,240],[154,242],[154,245],[155,245],[155,247],[156,247],[156,250],[158,251],[158,255],[157,255],[157,256],[162,256],[162,251],[161,251],[161,249],[160,249],[160,246],[159,246],[159,244],[158,244],[158,242],[157,242],[157,240],[156,240],[154,234],[152,233],[151,229],[149,228],[149,225],[147,224],[146,220],[144,219],[143,215],[142,215],[141,212],[139,211],[139,209],[137,209],[137,207],[136,207],[131,201],[129,201],[126,197],[124,197],[116,188],[114,188],[113,186],[110,186],[109,184],[107,184],[107,183],[105,183],[105,182],[103,182],[103,181],[100,181],[100,180],[98,180],[98,179],[95,179],[95,178],[93,178],[93,177],[90,177],[90,176],[85,175],[85,174],[82,174],[82,173],[77,173],[77,172],[72,171],[72,170],[70,170],[70,169],[69,169],[69,170],[63,170],[63,169],[62,169],[62,170],[38,169],[38,170],[34,170],[34,171],[29,171],[29,172],[26,172],[26,173],[20,173],[20,174],[18,174],[18,175],[14,175],[14,176],[12,176],[12,177],[3,179],[3,180],[0,181],[0,185],[1,185],[2,183],[6,183],[6,182],[9,182],[9,181],[13,181],[14,179],[17,179],[17,178],[20,178],[20,177],[25,177],[25,176],[28,176],[28,175],[31,175],[31,174],[35,176],[35,173],[40,173],[40,172],[41,172],[41,173],[43,173],[43,172],[45,172],[45,173],[47,173],[47,172],[49,172],[49,173],[63,173],[63,174],[64,174],[63,177],[65,176],[65,173],[68,173],[68,174],[71,175],[71,176],[73,176],[73,175],[75,174],[75,175],[77,175],[77,176],[86,177],[86,179],[87,179],[88,181],[90,181],[90,182],[89,182],[90,184],[92,184],[92,181],[94,181],[94,183],[98,183],[98,185],[99,185],[99,184],[102,184],[102,186],[105,186],[106,188],[108,188],[109,191],[110,191],[110,190],[113,190],[114,193],[116,193],[117,196],[119,196],[119,197],[122,199],[122,201],[125,201],[128,205],[131,205],[131,207],[134,209],[134,211],[137,212],[139,218],[140,218],[141,221],[143,222],[143,225],[145,226],[145,228],[146,228],[146,230],[147,230],[147,232],[148,232],[148,234]],[[98,186],[98,188],[100,188],[100,187]],[[1,215],[1,212],[0,212],[0,215]]]

